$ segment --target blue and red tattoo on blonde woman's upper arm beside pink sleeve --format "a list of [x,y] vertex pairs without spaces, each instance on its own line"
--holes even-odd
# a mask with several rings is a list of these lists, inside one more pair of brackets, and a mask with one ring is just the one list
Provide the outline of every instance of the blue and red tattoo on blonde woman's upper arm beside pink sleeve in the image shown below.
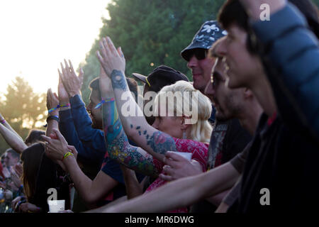
[[156,153],[164,154],[167,150],[177,150],[175,140],[172,136],[161,131],[153,133],[152,136],[147,135],[146,140],[147,145],[150,145]]

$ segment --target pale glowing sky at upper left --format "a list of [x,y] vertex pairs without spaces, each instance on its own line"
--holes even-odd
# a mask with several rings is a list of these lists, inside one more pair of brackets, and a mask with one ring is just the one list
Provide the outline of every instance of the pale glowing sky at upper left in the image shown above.
[[57,67],[64,58],[75,68],[85,60],[109,1],[0,1],[0,93],[18,75],[35,92],[57,91]]

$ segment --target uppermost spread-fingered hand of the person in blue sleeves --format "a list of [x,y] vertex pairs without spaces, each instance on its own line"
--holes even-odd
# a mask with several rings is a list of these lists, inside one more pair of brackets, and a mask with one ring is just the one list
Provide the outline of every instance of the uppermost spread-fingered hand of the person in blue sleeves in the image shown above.
[[65,67],[61,63],[61,70],[62,73],[59,71],[59,74],[69,98],[72,98],[76,94],[80,95],[84,76],[83,70],[81,69],[79,76],[77,76],[70,60],[69,64],[67,63],[67,60],[65,60]]

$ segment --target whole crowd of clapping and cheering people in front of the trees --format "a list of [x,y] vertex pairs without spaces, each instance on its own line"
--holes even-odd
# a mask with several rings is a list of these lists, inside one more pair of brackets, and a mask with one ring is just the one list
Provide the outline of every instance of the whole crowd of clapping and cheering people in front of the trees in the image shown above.
[[65,60],[46,131],[23,140],[0,116],[1,211],[48,212],[49,189],[65,212],[318,211],[318,35],[310,0],[225,0],[181,50],[192,82],[166,65],[126,77],[102,38],[87,106]]

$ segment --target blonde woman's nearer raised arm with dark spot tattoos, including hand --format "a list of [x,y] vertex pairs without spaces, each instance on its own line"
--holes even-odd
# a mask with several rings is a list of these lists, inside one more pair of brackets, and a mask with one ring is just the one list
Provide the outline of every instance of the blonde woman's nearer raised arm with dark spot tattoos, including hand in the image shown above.
[[[110,38],[107,40],[103,38],[103,42],[100,42],[100,51],[101,54],[98,51],[97,56],[106,74],[111,78],[118,114],[126,135],[140,148],[162,161],[167,150],[176,150],[174,139],[147,123],[142,110],[130,94],[124,74],[125,58],[121,48],[116,50]],[[100,90],[103,96],[103,91],[108,90],[109,84],[106,82],[107,78],[101,77],[100,79]],[[123,100],[124,96],[126,99]],[[128,110],[125,109],[125,106],[128,104],[130,109],[135,110],[134,116],[127,114]],[[121,122],[119,121],[118,124],[120,125]]]

